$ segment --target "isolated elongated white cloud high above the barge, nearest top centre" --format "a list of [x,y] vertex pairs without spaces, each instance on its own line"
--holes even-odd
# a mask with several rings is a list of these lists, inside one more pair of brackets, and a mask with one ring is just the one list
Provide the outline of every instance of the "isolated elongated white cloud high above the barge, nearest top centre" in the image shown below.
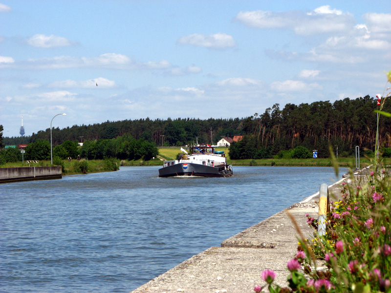
[[179,38],[178,43],[212,49],[226,49],[232,48],[236,45],[232,36],[221,33],[208,36],[202,34],[192,34]]

